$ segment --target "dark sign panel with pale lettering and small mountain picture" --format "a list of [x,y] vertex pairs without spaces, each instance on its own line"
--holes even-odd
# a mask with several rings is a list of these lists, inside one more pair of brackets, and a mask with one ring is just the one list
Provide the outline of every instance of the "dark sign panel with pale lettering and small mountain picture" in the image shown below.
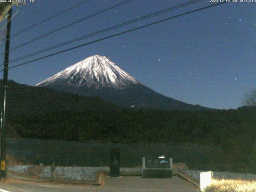
[[170,158],[146,158],[146,168],[170,168]]

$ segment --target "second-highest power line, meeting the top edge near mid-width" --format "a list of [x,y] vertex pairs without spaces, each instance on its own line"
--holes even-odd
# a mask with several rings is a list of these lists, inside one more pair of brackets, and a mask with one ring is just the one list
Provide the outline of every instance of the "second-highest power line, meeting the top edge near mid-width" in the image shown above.
[[[53,34],[53,33],[55,33],[55,32],[58,32],[58,31],[60,31],[60,30],[62,30],[62,29],[64,29],[64,28],[67,28],[67,27],[69,27],[69,26],[72,26],[72,25],[74,25],[74,24],[77,24],[78,22],[81,22],[81,21],[83,21],[83,20],[86,20],[86,19],[91,18],[91,17],[93,17],[93,16],[96,16],[96,15],[98,15],[98,14],[101,14],[101,13],[103,13],[103,12],[106,12],[106,11],[108,11],[108,10],[110,10],[110,9],[116,8],[116,7],[118,7],[118,6],[122,5],[122,4],[128,3],[128,2],[130,2],[130,1],[132,1],[132,0],[126,0],[126,1],[124,1],[124,2],[115,4],[115,5],[111,6],[111,7],[108,7],[108,8],[106,8],[106,9],[103,9],[103,10],[101,10],[101,11],[98,11],[98,12],[96,12],[96,13],[94,13],[94,14],[91,14],[91,15],[89,15],[89,16],[86,16],[86,17],[84,17],[84,18],[81,18],[81,19],[79,19],[79,20],[76,20],[76,21],[74,21],[74,22],[72,22],[72,23],[70,23],[70,24],[67,24],[67,25],[65,25],[65,26],[62,26],[62,27],[60,27],[60,28],[58,28],[58,29],[56,29],[56,30],[52,30],[52,31],[50,31],[50,32],[48,32],[48,33],[46,33],[46,34],[44,34],[44,35],[41,35],[41,36],[39,36],[39,37],[36,37],[36,38],[34,38],[34,39],[32,39],[32,40],[30,40],[30,41],[24,43],[24,44],[20,44],[20,45],[18,45],[18,46],[16,46],[16,47],[10,49],[9,52],[11,52],[11,51],[13,51],[13,50],[15,50],[15,49],[18,49],[18,48],[20,48],[20,47],[23,47],[23,46],[25,46],[25,45],[27,45],[27,44],[30,44],[30,43],[32,43],[32,42],[34,42],[34,41],[36,41],[36,40],[39,40],[39,39],[41,39],[41,38],[44,38],[44,37],[46,37],[46,36],[48,36],[48,35],[50,35],[50,34]],[[0,55],[2,55],[2,54],[4,54],[4,53],[1,53]]]

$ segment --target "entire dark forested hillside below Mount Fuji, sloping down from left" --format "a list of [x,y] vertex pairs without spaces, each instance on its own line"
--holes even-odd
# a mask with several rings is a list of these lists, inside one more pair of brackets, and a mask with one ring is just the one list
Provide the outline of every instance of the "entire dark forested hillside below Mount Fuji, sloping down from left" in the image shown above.
[[228,169],[241,169],[243,162],[244,171],[256,171],[256,107],[197,112],[126,109],[100,98],[11,81],[6,117],[8,136],[220,145],[220,159]]

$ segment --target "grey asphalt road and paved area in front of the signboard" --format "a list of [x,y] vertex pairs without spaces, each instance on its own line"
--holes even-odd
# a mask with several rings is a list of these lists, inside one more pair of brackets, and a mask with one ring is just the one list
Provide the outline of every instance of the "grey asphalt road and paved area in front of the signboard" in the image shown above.
[[107,178],[106,186],[48,184],[7,181],[0,183],[0,192],[198,192],[197,188],[174,176],[172,179],[141,177]]

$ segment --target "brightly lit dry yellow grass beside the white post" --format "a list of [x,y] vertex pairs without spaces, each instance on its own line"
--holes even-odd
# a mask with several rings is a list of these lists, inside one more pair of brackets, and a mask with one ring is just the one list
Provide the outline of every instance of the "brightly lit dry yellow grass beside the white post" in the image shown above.
[[256,192],[256,181],[212,180],[205,192]]

